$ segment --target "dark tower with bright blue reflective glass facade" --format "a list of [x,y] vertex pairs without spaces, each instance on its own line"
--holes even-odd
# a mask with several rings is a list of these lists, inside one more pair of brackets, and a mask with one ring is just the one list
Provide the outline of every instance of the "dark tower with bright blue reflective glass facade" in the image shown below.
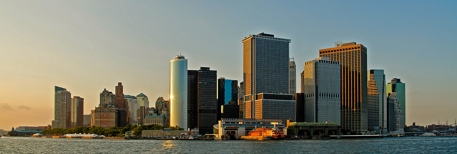
[[[217,120],[220,120],[222,117],[223,107],[224,105],[228,105],[228,102],[233,101],[234,103],[231,103],[233,105],[238,105],[238,92],[239,92],[239,87],[238,87],[238,80],[228,80],[223,77],[219,77],[218,79],[218,118]],[[239,108],[237,108],[239,110]],[[236,117],[239,118],[239,111],[236,112]],[[228,116],[227,114],[225,114]],[[230,116],[233,117],[233,116]],[[228,118],[228,117],[224,117]]]

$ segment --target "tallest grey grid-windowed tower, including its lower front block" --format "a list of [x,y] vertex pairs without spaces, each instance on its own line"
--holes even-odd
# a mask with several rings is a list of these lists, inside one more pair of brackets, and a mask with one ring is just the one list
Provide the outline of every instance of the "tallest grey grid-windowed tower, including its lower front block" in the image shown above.
[[245,37],[242,42],[244,118],[275,118],[276,115],[282,120],[295,120],[295,101],[293,95],[287,95],[290,40],[260,33]]

